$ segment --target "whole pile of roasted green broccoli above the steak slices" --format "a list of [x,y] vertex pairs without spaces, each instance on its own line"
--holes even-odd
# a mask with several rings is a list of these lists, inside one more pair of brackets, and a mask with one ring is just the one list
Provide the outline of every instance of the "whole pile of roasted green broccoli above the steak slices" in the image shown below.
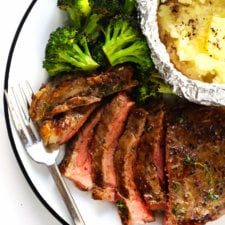
[[71,23],[50,35],[44,68],[51,75],[91,71],[123,63],[141,72],[152,67],[135,0],[58,0]]

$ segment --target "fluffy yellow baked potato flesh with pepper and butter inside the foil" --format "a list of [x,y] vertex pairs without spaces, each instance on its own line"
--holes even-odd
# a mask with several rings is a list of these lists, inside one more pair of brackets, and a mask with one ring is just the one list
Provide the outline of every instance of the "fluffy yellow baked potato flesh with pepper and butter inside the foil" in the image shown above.
[[171,62],[191,79],[225,83],[225,1],[161,1],[158,24]]

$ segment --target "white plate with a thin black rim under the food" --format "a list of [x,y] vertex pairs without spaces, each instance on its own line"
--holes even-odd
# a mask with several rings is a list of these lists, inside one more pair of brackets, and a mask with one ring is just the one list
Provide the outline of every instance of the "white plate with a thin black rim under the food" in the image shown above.
[[[46,81],[48,75],[42,68],[45,46],[49,34],[65,22],[65,15],[56,7],[56,4],[57,0],[33,0],[26,10],[16,31],[8,56],[5,75],[6,89],[28,80],[34,91],[37,91],[40,85]],[[72,224],[47,168],[34,163],[25,154],[11,125],[7,110],[5,113],[14,153],[34,193],[62,224]],[[79,191],[72,182],[68,180],[66,182],[78,204],[86,225],[121,224],[113,204],[92,200],[89,192]],[[157,220],[150,224],[161,225],[163,224],[162,218],[157,216]],[[209,224],[224,225],[225,217]]]

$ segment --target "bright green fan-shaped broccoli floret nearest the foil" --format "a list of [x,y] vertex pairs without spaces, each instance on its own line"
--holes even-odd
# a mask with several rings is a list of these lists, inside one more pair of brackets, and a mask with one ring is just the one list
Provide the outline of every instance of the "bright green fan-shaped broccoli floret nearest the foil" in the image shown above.
[[137,64],[143,71],[152,67],[146,39],[126,19],[110,20],[105,30],[103,51],[112,66],[131,62]]

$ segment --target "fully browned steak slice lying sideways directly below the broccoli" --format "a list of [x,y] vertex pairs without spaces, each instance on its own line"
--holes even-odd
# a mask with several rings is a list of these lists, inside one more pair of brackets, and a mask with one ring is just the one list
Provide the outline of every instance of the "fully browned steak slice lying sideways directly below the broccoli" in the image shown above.
[[129,66],[112,68],[93,76],[63,75],[43,85],[33,95],[30,116],[33,121],[101,101],[102,97],[137,85]]

